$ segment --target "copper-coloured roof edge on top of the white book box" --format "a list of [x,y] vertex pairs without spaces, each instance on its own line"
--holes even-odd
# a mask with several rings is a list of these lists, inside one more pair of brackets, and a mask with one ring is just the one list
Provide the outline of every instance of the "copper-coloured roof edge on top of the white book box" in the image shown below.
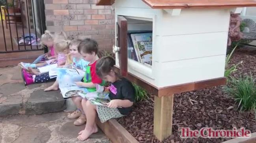
[[[153,9],[252,7],[256,0],[142,0]],[[97,5],[112,5],[115,0],[99,0]]]

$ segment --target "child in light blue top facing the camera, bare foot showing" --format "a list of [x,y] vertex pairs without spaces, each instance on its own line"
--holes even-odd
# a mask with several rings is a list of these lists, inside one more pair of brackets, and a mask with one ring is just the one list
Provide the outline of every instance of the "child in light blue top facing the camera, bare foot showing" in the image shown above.
[[[69,61],[66,61],[66,64],[64,67],[66,68],[75,68],[77,70],[86,70],[86,67],[88,66],[87,61],[82,59],[82,56],[78,53],[78,45],[80,44],[81,40],[71,40],[69,43],[69,55],[71,56],[72,63],[69,63]],[[58,82],[58,76],[57,80],[51,85],[50,87],[46,88],[44,91],[56,91],[59,89],[59,82]]]

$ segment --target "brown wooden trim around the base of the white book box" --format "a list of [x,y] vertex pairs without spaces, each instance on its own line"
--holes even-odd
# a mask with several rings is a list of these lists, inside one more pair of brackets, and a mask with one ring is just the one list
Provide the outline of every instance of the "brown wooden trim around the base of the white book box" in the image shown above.
[[[115,66],[115,72],[120,73],[120,69]],[[134,74],[131,74],[128,72],[127,77],[128,80],[136,83],[140,87],[146,89],[148,92],[151,94],[154,94],[156,96],[170,96],[172,94],[177,94],[181,92],[187,92],[187,91],[194,91],[198,89],[204,89],[207,87],[214,87],[218,85],[225,85],[226,84],[226,78],[213,78],[209,80],[202,80],[202,81],[196,81],[196,82],[191,82],[191,83],[184,83],[184,84],[179,84],[179,85],[172,85],[168,87],[155,87],[151,83],[148,83],[147,81],[139,78],[138,76],[135,76]]]

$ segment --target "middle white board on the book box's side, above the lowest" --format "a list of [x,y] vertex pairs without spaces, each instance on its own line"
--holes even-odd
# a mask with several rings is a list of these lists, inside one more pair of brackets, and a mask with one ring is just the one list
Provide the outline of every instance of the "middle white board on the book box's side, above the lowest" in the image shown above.
[[[202,33],[176,36],[162,36],[158,38],[159,48],[162,51],[160,61],[169,62],[206,56],[226,54],[228,40],[227,32]],[[158,42],[158,41],[153,41]]]

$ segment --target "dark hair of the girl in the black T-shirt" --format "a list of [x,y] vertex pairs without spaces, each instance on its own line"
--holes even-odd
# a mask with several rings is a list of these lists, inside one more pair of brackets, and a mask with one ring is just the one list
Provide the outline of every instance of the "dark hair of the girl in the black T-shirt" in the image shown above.
[[96,63],[96,74],[100,78],[103,78],[103,76],[108,75],[111,70],[114,71],[115,64],[116,64],[116,62],[115,62],[114,58],[112,58],[110,56],[100,58]]

